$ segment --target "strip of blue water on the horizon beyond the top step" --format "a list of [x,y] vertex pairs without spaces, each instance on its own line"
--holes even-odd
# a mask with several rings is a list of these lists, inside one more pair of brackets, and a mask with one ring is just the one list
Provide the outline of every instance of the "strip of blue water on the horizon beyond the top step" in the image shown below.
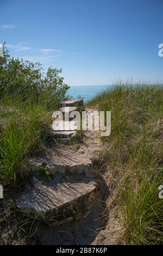
[[73,99],[78,99],[79,96],[84,97],[84,102],[87,102],[98,93],[109,88],[111,88],[111,86],[71,86],[67,93],[72,96]]

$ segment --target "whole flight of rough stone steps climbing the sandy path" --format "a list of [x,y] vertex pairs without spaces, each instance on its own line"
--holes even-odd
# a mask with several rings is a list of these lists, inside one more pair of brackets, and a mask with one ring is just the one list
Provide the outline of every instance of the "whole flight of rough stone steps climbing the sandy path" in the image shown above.
[[[61,102],[64,107],[85,110],[83,100]],[[71,139],[69,131],[53,131],[57,139]],[[76,131],[74,131],[74,134]],[[67,143],[66,143],[67,144]],[[37,216],[52,225],[86,217],[98,196],[93,164],[85,145],[55,144],[45,155],[30,159],[32,178],[16,197],[17,211],[31,218]],[[40,177],[39,168],[50,175]]]

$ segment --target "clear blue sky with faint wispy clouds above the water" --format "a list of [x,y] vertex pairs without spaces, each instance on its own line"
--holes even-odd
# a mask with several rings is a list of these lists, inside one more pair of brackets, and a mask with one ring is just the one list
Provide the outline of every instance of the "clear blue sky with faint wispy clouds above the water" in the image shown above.
[[0,43],[74,85],[163,82],[162,0],[0,0]]

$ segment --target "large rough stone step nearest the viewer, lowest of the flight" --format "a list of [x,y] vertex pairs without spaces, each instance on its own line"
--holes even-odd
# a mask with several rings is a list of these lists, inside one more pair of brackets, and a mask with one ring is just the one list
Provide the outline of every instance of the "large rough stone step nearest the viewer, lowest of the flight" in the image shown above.
[[97,196],[95,181],[69,176],[51,180],[33,177],[24,191],[17,194],[17,211],[31,218],[48,220],[52,225],[86,217]]

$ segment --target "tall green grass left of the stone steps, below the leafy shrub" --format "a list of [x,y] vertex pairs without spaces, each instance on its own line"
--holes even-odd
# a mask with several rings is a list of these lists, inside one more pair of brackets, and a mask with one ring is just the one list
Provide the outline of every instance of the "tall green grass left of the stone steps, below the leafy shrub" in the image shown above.
[[[55,108],[54,108],[55,110]],[[5,96],[0,101],[0,180],[15,185],[28,173],[28,159],[45,148],[52,112],[43,100]]]

